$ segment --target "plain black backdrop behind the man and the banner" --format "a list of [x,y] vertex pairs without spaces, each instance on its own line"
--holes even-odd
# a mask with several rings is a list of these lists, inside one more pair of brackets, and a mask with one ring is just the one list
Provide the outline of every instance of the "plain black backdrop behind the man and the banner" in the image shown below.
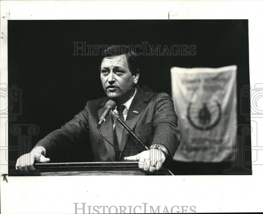
[[[9,20],[8,86],[17,86],[22,92],[22,114],[16,121],[9,121],[9,128],[13,124],[39,126],[39,133],[32,136],[32,147],[83,110],[88,100],[105,96],[99,56],[73,56],[73,42],[149,42],[154,47],[194,44],[194,56],[141,56],[140,86],[171,95],[171,67],[217,68],[235,64],[237,122],[250,124],[240,113],[241,106],[249,112],[249,102],[240,99],[240,90],[250,84],[248,20]],[[18,137],[10,131],[8,145],[18,145]],[[251,145],[250,136],[245,145]],[[9,150],[9,161],[17,158],[18,152]],[[245,162],[251,161],[251,152],[245,158]],[[14,168],[14,164],[9,165],[9,170]],[[178,175],[221,175],[224,169],[231,168],[231,163],[174,161],[171,168]]]

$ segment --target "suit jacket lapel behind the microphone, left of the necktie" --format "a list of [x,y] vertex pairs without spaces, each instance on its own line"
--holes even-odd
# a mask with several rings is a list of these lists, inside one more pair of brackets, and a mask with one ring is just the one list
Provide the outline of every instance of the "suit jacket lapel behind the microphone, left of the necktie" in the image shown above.
[[[105,104],[106,102],[109,100],[109,98],[105,98],[105,100],[100,104],[101,108],[98,110],[98,117],[100,118],[103,114],[103,112],[105,111]],[[105,121],[102,123],[101,125],[102,128],[102,132],[103,132],[103,136],[105,138],[107,138],[107,140],[109,140],[112,144],[114,144],[114,136],[113,136],[113,132],[112,132],[112,128],[113,128],[113,123],[112,123],[112,116],[109,115],[108,117],[106,117]],[[102,139],[102,138],[99,138]],[[103,139],[102,139],[103,140]],[[103,140],[104,145],[108,151],[108,155],[110,157],[110,159],[112,161],[114,161],[114,148],[113,146],[111,146],[107,141]],[[103,146],[103,143],[101,144]],[[102,152],[104,153],[104,149],[102,148]],[[105,156],[105,154],[102,155],[103,158]]]

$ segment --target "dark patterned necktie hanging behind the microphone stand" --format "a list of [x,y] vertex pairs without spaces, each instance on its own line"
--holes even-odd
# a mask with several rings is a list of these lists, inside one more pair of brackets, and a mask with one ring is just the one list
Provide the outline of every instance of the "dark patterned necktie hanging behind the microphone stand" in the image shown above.
[[[119,113],[119,117],[124,121],[122,110],[120,110],[119,106],[117,106],[117,111]],[[114,133],[114,146],[119,148],[119,149],[120,149],[120,147],[122,145],[122,140],[124,138],[123,137],[123,134],[124,134],[123,130],[124,130],[124,127],[116,120],[115,127],[114,127],[114,130],[113,130],[113,133]],[[120,152],[115,151],[115,161],[118,161],[119,157],[120,157]]]

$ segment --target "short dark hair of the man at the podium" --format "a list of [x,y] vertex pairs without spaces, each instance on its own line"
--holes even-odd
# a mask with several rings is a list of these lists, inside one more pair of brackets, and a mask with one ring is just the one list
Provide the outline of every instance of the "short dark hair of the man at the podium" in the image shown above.
[[128,67],[132,75],[135,75],[136,73],[139,73],[139,62],[138,62],[138,56],[130,50],[127,46],[122,45],[111,45],[108,47],[104,54],[101,56],[100,64],[99,64],[99,71],[101,69],[101,63],[102,60],[105,57],[112,57],[112,56],[120,56],[120,55],[126,55]]

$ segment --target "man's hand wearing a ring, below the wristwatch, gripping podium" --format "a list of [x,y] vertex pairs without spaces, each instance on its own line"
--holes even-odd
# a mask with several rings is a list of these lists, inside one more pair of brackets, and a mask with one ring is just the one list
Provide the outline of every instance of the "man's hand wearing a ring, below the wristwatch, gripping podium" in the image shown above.
[[124,157],[125,161],[139,161],[139,168],[144,171],[158,171],[165,161],[164,153],[158,149],[143,151],[137,155]]

